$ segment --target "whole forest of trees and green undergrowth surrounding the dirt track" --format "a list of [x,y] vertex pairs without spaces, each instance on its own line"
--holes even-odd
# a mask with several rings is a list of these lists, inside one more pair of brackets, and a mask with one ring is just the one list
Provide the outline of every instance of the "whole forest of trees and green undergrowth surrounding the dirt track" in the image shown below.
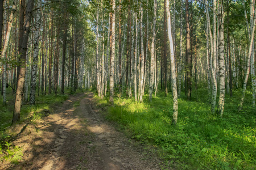
[[91,93],[155,169],[255,169],[255,25],[255,0],[0,0],[0,169]]

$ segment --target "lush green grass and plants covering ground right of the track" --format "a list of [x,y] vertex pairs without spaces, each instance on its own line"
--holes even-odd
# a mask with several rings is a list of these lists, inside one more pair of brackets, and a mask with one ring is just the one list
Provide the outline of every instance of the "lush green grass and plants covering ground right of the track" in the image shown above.
[[[167,163],[174,162],[175,168],[255,169],[256,117],[247,99],[250,97],[246,98],[243,111],[237,112],[241,91],[234,91],[232,98],[226,95],[221,118],[210,113],[207,90],[200,89],[195,94],[192,101],[181,95],[176,126],[171,125],[172,96],[164,97],[161,91],[152,103],[148,103],[148,95],[144,96],[144,103],[115,97],[107,118],[118,122],[119,128],[132,138],[158,146],[160,156]],[[108,104],[108,99],[95,97],[98,105]]]

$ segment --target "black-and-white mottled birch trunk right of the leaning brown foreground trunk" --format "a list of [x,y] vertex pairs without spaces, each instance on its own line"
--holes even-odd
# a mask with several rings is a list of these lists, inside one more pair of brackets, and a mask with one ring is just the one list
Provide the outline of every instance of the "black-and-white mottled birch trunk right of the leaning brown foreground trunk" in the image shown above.
[[35,39],[34,39],[34,56],[31,75],[31,88],[30,88],[30,104],[35,104],[36,93],[36,73],[38,71],[38,53],[39,53],[39,37],[40,37],[40,23],[41,23],[41,0],[38,0],[36,5],[36,18],[35,18]]

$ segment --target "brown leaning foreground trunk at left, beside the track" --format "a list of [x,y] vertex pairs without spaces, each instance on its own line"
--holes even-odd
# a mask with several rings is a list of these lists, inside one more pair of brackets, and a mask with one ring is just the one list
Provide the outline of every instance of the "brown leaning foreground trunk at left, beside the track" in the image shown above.
[[[23,87],[24,87],[24,76],[25,76],[25,60],[26,60],[26,52],[27,52],[27,41],[28,41],[28,34],[30,32],[30,22],[32,16],[32,8],[34,6],[33,0],[28,0],[27,2],[27,11],[26,17],[24,19],[24,32],[22,36],[22,48],[20,49],[20,59],[21,65],[19,67],[19,79],[18,79],[18,86],[16,90],[16,98],[14,104],[14,113],[13,113],[13,121],[12,124],[15,124],[16,121],[20,120],[20,108],[22,105],[22,94],[23,94]],[[16,6],[15,3],[13,5],[13,10],[15,10]]]

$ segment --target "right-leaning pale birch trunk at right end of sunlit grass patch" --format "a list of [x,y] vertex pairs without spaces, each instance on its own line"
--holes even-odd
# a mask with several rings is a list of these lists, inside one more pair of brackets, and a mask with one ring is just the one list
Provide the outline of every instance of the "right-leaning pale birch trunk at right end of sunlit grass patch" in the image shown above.
[[155,70],[155,24],[156,24],[156,0],[154,0],[154,18],[152,29],[152,41],[151,41],[151,62],[150,62],[150,88],[148,90],[149,101],[152,101],[152,91],[154,84],[154,70]]

